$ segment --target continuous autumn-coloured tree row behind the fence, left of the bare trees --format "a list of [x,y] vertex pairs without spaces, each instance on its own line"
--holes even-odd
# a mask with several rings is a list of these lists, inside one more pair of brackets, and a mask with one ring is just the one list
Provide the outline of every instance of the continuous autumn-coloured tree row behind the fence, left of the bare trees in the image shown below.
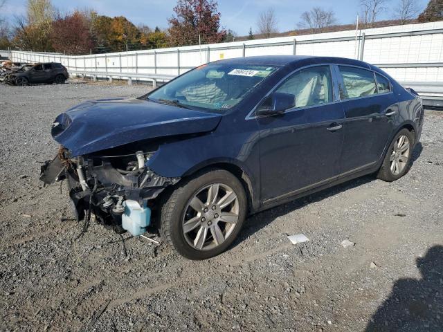
[[[0,0],[0,8],[6,0]],[[26,15],[12,29],[0,18],[0,49],[55,51],[78,55],[121,50],[232,42],[233,31],[220,26],[215,0],[178,0],[169,28],[134,25],[126,17],[95,10],[62,14],[51,0],[28,0]]]

